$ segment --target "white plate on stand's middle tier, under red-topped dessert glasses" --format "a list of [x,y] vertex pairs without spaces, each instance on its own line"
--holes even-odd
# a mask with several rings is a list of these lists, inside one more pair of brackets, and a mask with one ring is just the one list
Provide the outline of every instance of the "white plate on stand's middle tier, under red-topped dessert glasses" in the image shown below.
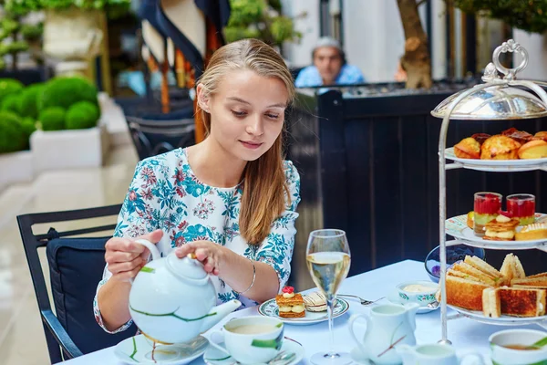
[[[536,213],[536,222],[546,217],[546,214]],[[517,230],[521,227],[517,227]],[[539,248],[542,245],[547,246],[547,239],[530,241],[490,241],[482,239],[473,233],[473,230],[467,225],[467,214],[458,215],[446,220],[445,230],[448,235],[464,242],[468,245],[484,248],[503,248],[503,249],[529,249]]]

